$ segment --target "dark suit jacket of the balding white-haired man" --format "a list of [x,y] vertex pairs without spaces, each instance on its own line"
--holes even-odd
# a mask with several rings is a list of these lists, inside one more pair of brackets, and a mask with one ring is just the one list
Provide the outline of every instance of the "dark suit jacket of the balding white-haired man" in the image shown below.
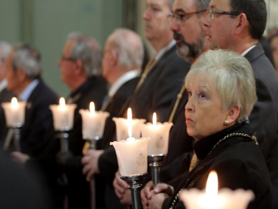
[[110,113],[110,116],[106,119],[103,137],[98,141],[97,149],[102,150],[110,147],[109,143],[113,141],[116,133],[116,125],[112,118],[120,117],[120,109],[131,96],[138,81],[139,77],[136,77],[125,82],[107,104],[104,111]]

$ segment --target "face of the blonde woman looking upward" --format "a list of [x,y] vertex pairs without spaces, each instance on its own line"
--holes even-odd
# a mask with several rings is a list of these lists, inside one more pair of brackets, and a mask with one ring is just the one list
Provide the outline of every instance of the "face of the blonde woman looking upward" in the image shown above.
[[226,128],[228,112],[223,111],[220,94],[210,76],[195,77],[189,84],[188,102],[185,105],[187,133],[196,140]]

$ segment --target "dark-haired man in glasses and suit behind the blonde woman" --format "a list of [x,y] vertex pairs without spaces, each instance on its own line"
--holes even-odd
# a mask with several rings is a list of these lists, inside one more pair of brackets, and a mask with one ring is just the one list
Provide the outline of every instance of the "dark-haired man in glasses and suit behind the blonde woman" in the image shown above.
[[258,101],[249,120],[268,165],[274,208],[278,208],[278,79],[259,43],[266,18],[264,0],[212,0],[204,26],[211,49],[235,51],[252,66]]

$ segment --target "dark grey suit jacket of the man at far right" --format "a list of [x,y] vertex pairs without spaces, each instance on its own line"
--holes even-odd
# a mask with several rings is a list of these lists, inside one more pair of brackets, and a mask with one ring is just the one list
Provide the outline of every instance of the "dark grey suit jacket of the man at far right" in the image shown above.
[[[257,132],[259,147],[266,160],[274,197],[278,196],[278,79],[274,67],[265,56],[261,44],[257,44],[245,56],[256,79],[258,101],[249,117],[253,132]],[[278,199],[274,198],[274,208]]]

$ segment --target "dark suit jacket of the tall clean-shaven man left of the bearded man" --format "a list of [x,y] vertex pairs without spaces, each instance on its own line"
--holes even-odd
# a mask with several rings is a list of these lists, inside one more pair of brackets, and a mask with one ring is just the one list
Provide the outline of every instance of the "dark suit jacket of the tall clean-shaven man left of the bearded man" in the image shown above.
[[122,116],[126,117],[127,109],[131,107],[133,118],[152,122],[153,113],[156,112],[159,122],[167,121],[171,103],[176,99],[189,67],[190,63],[178,56],[176,46],[173,46],[150,70],[143,84],[125,105]]

